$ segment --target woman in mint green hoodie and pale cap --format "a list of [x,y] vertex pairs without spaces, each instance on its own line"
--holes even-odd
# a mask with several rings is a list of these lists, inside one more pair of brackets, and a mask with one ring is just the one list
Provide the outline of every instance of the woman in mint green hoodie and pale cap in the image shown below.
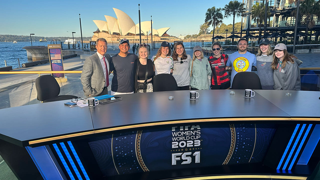
[[210,88],[211,67],[209,61],[204,57],[202,48],[193,48],[192,62],[189,63],[189,75],[191,90],[202,90]]

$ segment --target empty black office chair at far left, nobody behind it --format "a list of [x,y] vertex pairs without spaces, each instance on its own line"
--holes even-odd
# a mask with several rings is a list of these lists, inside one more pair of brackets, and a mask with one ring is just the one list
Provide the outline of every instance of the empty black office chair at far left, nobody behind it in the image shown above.
[[37,100],[53,102],[77,98],[74,95],[59,95],[60,86],[51,75],[43,75],[36,78]]

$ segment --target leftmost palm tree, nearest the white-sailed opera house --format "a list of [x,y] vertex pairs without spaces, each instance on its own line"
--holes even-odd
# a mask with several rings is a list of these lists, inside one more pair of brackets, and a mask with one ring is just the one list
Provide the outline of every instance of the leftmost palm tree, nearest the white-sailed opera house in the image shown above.
[[[207,10],[205,13],[205,20],[204,22],[208,23],[208,26],[213,26],[212,31],[212,44],[213,44],[213,37],[214,37],[214,29],[216,26],[219,26],[219,24],[222,23],[223,20],[223,14],[221,12],[221,8],[212,7]],[[234,22],[234,21],[233,21]]]

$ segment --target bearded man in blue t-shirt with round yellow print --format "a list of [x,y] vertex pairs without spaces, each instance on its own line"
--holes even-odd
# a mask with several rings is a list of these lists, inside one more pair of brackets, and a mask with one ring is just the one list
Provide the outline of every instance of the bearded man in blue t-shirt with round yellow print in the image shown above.
[[231,88],[232,81],[238,72],[250,71],[252,66],[257,66],[256,56],[247,52],[248,41],[246,39],[240,39],[238,41],[238,51],[229,55],[226,69],[232,67],[231,71]]

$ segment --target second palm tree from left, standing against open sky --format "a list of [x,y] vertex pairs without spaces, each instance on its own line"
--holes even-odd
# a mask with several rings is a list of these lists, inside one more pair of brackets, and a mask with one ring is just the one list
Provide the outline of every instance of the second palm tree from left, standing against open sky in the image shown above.
[[231,15],[233,16],[232,34],[235,34],[235,18],[241,17],[244,13],[244,3],[240,3],[236,0],[230,1],[229,4],[226,4],[222,10],[224,11],[225,18],[228,18]]

